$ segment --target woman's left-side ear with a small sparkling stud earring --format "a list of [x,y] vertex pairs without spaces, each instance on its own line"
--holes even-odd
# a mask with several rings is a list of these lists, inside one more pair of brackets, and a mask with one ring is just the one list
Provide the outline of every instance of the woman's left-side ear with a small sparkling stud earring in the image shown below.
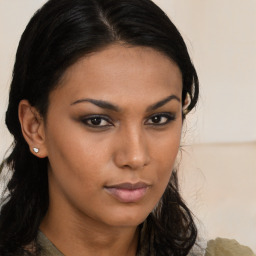
[[39,112],[27,100],[22,100],[18,114],[22,134],[31,153],[39,158],[47,157],[44,120]]

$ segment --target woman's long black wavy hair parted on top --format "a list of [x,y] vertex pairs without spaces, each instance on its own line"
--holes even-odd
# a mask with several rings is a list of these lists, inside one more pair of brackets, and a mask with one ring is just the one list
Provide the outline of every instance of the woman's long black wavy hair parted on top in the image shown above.
[[[0,255],[29,255],[48,209],[48,159],[30,153],[18,120],[18,105],[27,99],[47,115],[49,93],[79,58],[122,42],[146,46],[174,61],[183,79],[182,101],[190,111],[198,99],[198,78],[186,45],[167,15],[150,0],[50,0],[27,25],[17,50],[6,112],[13,149],[1,164],[12,177],[0,213]],[[183,116],[185,118],[185,115]],[[182,201],[174,171],[166,191],[147,218],[144,244],[154,255],[187,255],[197,230]],[[138,248],[140,250],[140,248]],[[32,255],[37,255],[34,250]]]

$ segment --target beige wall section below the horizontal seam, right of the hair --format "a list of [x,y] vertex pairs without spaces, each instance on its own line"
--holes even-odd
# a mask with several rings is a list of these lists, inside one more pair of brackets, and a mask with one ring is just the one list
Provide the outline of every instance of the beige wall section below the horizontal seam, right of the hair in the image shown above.
[[203,239],[236,239],[256,252],[255,156],[255,142],[182,148],[181,191]]

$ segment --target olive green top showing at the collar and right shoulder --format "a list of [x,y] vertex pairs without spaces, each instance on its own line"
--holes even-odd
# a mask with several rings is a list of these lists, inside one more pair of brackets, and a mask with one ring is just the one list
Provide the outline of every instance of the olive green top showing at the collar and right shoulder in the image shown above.
[[[41,232],[38,233],[38,242],[42,248],[41,256],[64,256],[54,244]],[[143,253],[142,253],[143,254]],[[149,255],[140,256],[149,256]],[[197,254],[191,254],[196,255]],[[256,256],[253,251],[239,244],[236,240],[217,238],[207,243],[205,256]]]

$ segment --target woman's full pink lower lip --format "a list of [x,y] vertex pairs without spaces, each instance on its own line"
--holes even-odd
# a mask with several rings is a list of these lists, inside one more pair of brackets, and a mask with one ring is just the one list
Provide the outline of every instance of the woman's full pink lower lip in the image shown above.
[[148,187],[137,189],[105,188],[107,192],[122,203],[135,203],[141,200]]

